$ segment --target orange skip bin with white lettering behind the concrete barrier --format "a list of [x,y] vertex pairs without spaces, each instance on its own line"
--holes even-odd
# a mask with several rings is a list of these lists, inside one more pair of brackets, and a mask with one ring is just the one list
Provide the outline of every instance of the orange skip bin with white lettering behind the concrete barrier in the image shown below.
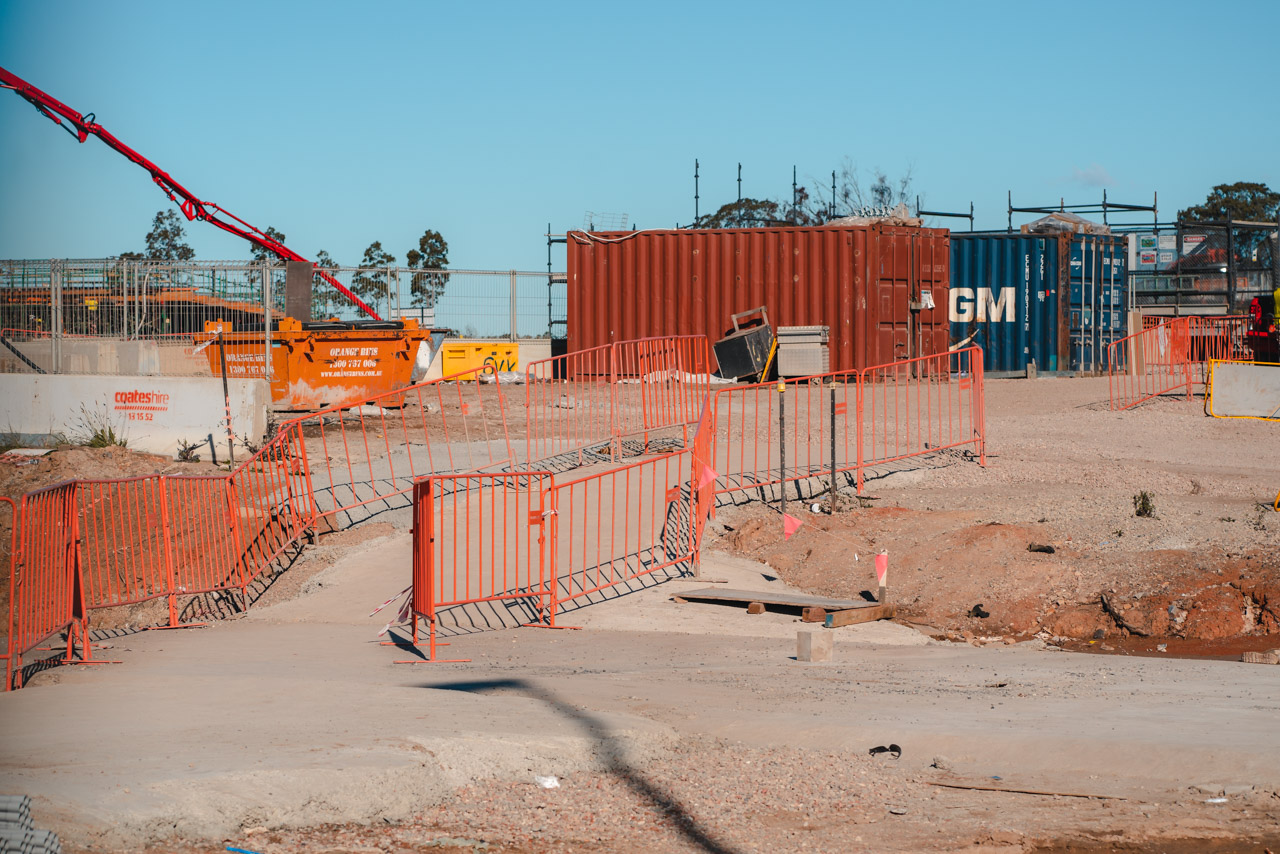
[[[315,320],[284,318],[271,330],[271,403],[276,410],[347,406],[410,385],[413,361],[433,330],[416,320]],[[221,373],[218,335],[227,348],[227,376],[266,376],[261,330],[234,332],[230,324],[205,323],[196,334],[214,375]]]

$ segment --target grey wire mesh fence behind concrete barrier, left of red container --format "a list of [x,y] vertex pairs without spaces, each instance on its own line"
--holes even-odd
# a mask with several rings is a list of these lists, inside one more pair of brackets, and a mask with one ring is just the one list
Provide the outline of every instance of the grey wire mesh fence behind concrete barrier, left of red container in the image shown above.
[[[512,341],[564,329],[561,273],[401,266],[324,273],[385,320],[413,319],[462,338]],[[0,373],[209,375],[209,360],[195,339],[206,324],[260,332],[264,353],[270,353],[284,305],[283,265],[0,261]],[[319,270],[311,318],[366,319]]]

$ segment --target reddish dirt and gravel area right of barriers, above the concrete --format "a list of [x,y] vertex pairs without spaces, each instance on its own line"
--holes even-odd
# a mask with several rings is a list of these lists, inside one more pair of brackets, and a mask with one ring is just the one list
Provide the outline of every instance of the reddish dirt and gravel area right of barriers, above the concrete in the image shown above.
[[[988,383],[987,424],[986,469],[956,456],[887,470],[833,516],[827,495],[792,489],[805,525],[790,540],[777,504],[721,508],[710,544],[841,598],[874,592],[884,549],[904,618],[952,639],[1236,659],[1280,647],[1280,463],[1267,451],[1280,424],[1175,399],[1111,412],[1103,383],[1065,379]],[[1151,516],[1135,512],[1142,493]]]

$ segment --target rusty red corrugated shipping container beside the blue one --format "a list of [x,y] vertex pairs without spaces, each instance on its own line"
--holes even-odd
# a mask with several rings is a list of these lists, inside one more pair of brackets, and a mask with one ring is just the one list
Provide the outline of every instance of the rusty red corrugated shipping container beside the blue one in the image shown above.
[[[831,370],[942,352],[950,232],[901,225],[568,233],[568,350],[777,326],[831,326]],[[928,307],[932,306],[932,307]]]

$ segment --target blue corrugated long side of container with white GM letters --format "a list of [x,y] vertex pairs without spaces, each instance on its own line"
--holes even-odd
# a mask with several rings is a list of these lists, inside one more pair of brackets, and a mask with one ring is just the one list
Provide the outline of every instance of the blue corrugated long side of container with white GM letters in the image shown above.
[[[988,371],[1059,370],[1059,238],[951,234],[951,341],[982,347]],[[1064,365],[1065,369],[1065,365]]]

